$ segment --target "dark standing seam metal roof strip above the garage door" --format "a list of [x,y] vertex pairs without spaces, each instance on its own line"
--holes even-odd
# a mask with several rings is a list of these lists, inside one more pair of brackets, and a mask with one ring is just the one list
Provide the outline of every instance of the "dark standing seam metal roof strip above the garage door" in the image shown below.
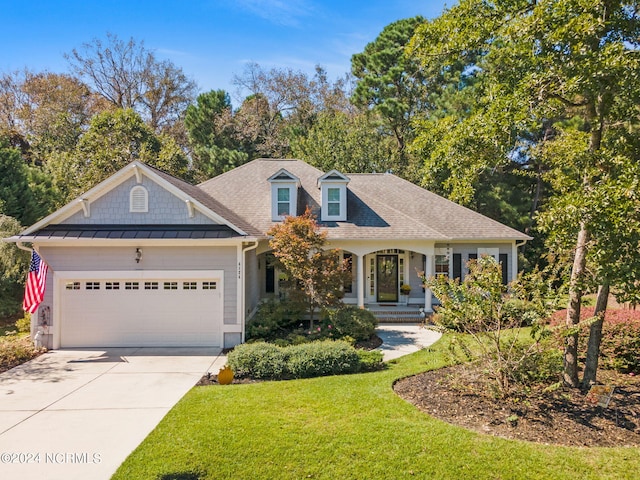
[[208,239],[241,237],[227,225],[47,225],[36,238]]

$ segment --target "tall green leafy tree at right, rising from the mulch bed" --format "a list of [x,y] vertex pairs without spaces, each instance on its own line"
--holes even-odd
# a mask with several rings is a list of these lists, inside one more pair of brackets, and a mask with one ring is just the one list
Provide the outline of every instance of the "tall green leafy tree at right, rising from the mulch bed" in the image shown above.
[[[444,71],[461,58],[473,59],[485,77],[486,111],[469,117],[473,123],[451,124],[452,139],[469,147],[469,157],[488,152],[480,157],[494,156],[498,167],[517,154],[520,139],[535,138],[526,132],[552,132],[538,136],[538,145],[559,154],[553,175],[567,187],[549,231],[574,234],[569,326],[580,319],[587,255],[595,245],[608,248],[596,235],[598,225],[603,215],[615,216],[618,202],[585,198],[597,198],[593,190],[618,181],[609,175],[613,164],[633,157],[618,138],[620,129],[638,124],[639,30],[638,6],[631,1],[462,0],[419,27],[412,43],[425,68]],[[472,160],[465,169],[474,167]],[[576,335],[567,336],[565,349],[564,379],[571,386],[579,385]]]

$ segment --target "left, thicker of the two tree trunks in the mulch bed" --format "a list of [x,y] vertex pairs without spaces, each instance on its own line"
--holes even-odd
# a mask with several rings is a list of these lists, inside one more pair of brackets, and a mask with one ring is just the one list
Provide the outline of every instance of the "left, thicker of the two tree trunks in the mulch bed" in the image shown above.
[[[567,306],[566,324],[568,328],[575,327],[580,322],[580,305],[582,302],[582,277],[584,276],[587,261],[587,243],[589,231],[584,222],[580,222],[580,232],[576,243],[576,253],[573,258],[571,280],[569,283],[569,305]],[[577,388],[580,386],[578,379],[578,332],[567,335],[564,350],[565,385]]]

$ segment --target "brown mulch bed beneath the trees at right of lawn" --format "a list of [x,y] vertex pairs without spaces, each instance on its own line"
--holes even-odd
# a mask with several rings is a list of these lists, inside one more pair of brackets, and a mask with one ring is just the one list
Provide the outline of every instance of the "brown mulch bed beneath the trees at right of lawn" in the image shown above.
[[615,387],[607,407],[562,387],[496,400],[481,368],[471,365],[405,378],[394,390],[422,411],[480,433],[567,446],[640,445],[640,377],[599,372],[598,380]]

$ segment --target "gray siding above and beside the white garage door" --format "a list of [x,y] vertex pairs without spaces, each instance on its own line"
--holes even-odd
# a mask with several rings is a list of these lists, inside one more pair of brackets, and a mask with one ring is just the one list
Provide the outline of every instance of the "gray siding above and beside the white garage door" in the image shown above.
[[[142,260],[135,262],[133,247],[47,247],[40,252],[54,271],[122,270],[223,270],[224,324],[237,325],[236,247],[142,247]],[[47,298],[53,300],[52,283],[47,282]],[[49,297],[51,295],[51,297]],[[50,303],[51,304],[51,303]]]

